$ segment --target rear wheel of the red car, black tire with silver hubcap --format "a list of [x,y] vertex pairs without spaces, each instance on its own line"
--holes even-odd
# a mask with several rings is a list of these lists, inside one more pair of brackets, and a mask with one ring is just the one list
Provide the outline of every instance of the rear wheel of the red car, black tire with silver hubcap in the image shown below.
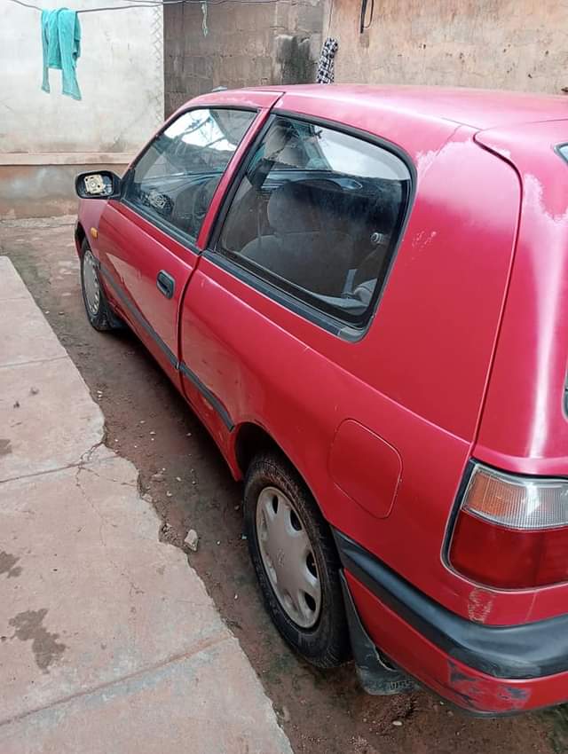
[[[277,499],[276,504],[274,504],[274,499]],[[278,514],[280,506],[283,507],[281,513]],[[283,521],[288,519],[283,527],[283,535],[280,531],[273,536],[268,533],[265,522],[266,510],[270,510],[270,507],[272,507],[272,513],[269,517],[273,515],[274,521],[279,515]],[[339,580],[341,568],[339,558],[331,532],[319,507],[296,470],[288,464],[286,459],[276,453],[266,453],[257,456],[252,461],[245,480],[244,515],[248,549],[264,604],[273,623],[288,644],[309,663],[319,668],[331,668],[343,664],[349,659],[350,643]],[[270,524],[271,527],[274,525]],[[282,524],[279,524],[279,527],[282,529]],[[284,552],[287,546],[282,545],[282,541],[288,541],[288,530],[292,532],[293,538],[287,553]],[[304,555],[294,557],[300,552],[296,549],[298,546],[296,535],[302,538],[304,544],[305,538],[309,541],[310,552],[305,556],[305,562]],[[290,592],[295,591],[297,581],[294,577],[295,569],[300,574],[301,581],[304,580],[305,569],[309,569],[312,577],[315,572],[315,577],[312,578],[311,586],[308,588],[315,589],[312,581],[317,582],[316,595],[319,594],[317,616],[314,611],[316,602],[307,593],[297,598],[296,601],[300,607],[296,609],[285,589],[284,582],[290,578],[288,573],[281,582],[275,584],[275,581],[278,581],[275,569],[279,566],[278,564],[274,566],[273,560],[280,560],[280,550],[276,558],[271,560],[267,554],[267,547],[272,545],[272,551],[274,550],[271,536],[277,547],[282,545],[284,568],[292,572],[294,583]],[[300,546],[303,546],[302,543]],[[290,559],[287,562],[288,554]],[[308,596],[311,597],[309,605],[307,604]],[[312,613],[313,621],[311,620]]]

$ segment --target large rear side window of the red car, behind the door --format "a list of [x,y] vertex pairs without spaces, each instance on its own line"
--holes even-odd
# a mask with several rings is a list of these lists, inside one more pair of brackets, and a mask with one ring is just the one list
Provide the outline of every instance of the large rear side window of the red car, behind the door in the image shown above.
[[278,116],[248,162],[216,250],[296,299],[364,326],[410,193],[410,172],[395,153]]

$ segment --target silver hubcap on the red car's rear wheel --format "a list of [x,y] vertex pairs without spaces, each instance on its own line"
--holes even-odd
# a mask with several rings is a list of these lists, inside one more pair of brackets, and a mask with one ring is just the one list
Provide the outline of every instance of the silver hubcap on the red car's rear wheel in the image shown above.
[[311,628],[321,609],[316,560],[296,508],[276,487],[265,487],[258,496],[256,536],[280,605],[294,623]]

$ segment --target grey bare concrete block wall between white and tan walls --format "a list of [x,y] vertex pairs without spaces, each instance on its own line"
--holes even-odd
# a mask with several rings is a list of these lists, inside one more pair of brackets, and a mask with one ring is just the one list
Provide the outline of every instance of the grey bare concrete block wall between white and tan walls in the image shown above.
[[217,86],[233,89],[315,80],[322,0],[164,7],[165,108]]

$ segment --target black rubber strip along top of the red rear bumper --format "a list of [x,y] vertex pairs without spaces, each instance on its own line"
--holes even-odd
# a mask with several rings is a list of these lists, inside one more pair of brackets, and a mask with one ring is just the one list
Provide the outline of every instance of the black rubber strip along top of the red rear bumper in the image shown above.
[[343,567],[450,657],[499,679],[534,679],[568,670],[568,615],[534,623],[474,623],[420,592],[363,547],[334,530]]

